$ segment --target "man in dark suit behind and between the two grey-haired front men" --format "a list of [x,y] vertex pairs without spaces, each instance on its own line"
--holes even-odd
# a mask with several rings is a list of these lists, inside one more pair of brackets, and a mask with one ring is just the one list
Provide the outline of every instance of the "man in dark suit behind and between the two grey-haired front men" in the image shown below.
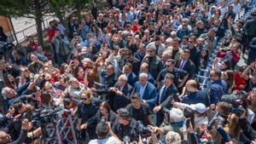
[[131,62],[125,62],[125,66],[123,66],[123,73],[128,78],[127,83],[134,86],[134,84],[137,82],[137,76],[132,70],[133,68]]

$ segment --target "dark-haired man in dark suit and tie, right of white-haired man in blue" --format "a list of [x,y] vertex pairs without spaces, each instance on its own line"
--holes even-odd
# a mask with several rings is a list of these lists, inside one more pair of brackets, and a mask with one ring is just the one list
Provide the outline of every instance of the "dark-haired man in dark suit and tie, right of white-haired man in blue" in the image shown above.
[[173,99],[177,101],[177,89],[176,86],[172,84],[173,78],[172,73],[166,73],[164,85],[161,87],[159,95],[154,99],[156,107],[154,107],[153,112],[156,113],[156,126],[160,126],[164,121],[165,114],[163,108],[170,109],[170,101]]

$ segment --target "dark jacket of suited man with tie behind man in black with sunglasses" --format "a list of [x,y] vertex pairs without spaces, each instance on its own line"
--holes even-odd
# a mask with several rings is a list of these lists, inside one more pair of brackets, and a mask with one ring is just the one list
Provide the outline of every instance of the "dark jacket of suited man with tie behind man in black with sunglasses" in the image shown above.
[[[179,68],[179,66],[181,65],[183,59],[179,59],[177,60],[176,66],[177,68]],[[195,73],[195,64],[192,60],[187,60],[185,65],[183,66],[183,70],[189,73],[189,78],[192,78],[194,73]]]

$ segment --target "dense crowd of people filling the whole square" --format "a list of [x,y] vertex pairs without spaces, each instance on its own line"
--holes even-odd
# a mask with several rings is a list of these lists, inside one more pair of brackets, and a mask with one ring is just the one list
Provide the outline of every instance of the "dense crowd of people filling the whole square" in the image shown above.
[[255,0],[108,4],[4,51],[0,143],[44,143],[44,110],[79,143],[256,143]]

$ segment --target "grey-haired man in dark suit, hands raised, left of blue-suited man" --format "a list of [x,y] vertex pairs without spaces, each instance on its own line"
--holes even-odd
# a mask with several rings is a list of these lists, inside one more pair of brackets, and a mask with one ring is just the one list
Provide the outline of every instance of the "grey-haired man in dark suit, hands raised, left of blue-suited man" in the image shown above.
[[107,101],[109,106],[116,112],[119,108],[126,107],[130,102],[130,95],[132,92],[132,87],[127,83],[128,78],[125,74],[122,74],[118,78],[118,82],[109,89],[104,89],[101,91],[96,91],[97,94],[107,94]]

